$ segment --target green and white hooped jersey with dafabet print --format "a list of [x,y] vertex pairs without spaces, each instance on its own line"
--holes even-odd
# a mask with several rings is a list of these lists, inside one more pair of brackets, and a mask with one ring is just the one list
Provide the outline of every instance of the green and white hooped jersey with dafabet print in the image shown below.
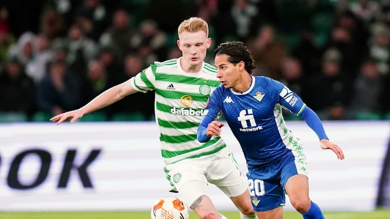
[[155,62],[130,79],[137,91],[156,91],[156,122],[166,164],[213,154],[226,147],[219,136],[207,143],[196,139],[209,95],[220,85],[216,68],[203,62],[200,72],[186,73],[179,63],[180,58]]

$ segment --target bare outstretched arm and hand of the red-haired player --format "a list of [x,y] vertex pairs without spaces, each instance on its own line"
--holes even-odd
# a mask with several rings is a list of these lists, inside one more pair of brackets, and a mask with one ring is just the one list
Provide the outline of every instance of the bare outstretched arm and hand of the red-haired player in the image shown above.
[[59,125],[63,121],[72,118],[70,122],[74,123],[76,120],[87,113],[107,107],[129,94],[137,92],[137,90],[135,90],[130,83],[132,83],[131,80],[127,80],[121,84],[118,84],[117,86],[102,92],[85,106],[77,110],[60,113],[56,116],[53,116],[50,121],[57,121],[57,125]]

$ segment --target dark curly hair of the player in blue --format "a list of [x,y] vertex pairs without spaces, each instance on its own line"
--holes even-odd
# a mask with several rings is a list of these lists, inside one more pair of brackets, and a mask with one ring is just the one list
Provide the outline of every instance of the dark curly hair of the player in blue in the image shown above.
[[236,65],[238,62],[243,61],[245,63],[245,70],[252,74],[256,68],[254,65],[254,59],[247,46],[240,41],[228,41],[221,43],[215,49],[214,56],[219,54],[225,54],[229,56],[229,62]]

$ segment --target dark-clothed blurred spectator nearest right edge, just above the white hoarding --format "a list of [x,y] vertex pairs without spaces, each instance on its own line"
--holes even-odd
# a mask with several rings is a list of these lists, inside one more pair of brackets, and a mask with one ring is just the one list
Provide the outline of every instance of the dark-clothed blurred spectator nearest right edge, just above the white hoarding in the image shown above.
[[373,60],[363,62],[360,74],[354,81],[351,109],[357,112],[378,112],[381,75]]

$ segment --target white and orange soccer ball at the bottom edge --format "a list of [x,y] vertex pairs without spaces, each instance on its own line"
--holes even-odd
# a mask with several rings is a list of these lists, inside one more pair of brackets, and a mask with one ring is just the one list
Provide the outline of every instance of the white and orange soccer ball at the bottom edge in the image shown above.
[[156,201],[150,212],[151,219],[188,219],[187,206],[175,196],[167,196]]

